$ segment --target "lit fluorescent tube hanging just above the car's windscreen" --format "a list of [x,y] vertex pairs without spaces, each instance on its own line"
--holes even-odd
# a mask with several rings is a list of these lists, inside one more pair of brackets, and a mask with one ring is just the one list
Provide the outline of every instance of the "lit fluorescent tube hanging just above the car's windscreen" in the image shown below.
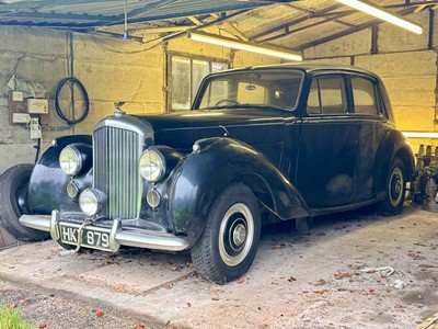
[[257,54],[263,54],[267,56],[275,56],[275,57],[280,57],[285,59],[290,59],[290,60],[302,60],[301,55],[284,52],[284,50],[277,50],[277,49],[272,49],[272,48],[266,48],[266,47],[261,47],[256,45],[252,45],[249,43],[235,41],[229,37],[223,37],[223,36],[216,36],[207,33],[188,33],[188,38],[203,42],[203,43],[208,43],[208,44],[214,44],[218,46],[224,46],[224,47],[230,47],[233,49],[240,49],[240,50],[246,50],[246,52],[252,52],[252,53],[257,53]]

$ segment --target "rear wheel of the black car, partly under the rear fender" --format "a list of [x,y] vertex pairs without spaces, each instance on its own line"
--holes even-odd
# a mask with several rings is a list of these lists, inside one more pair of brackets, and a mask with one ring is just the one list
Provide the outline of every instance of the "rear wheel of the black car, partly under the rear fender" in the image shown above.
[[395,215],[402,212],[406,193],[406,173],[402,160],[395,158],[387,178],[385,198],[378,204],[378,213]]

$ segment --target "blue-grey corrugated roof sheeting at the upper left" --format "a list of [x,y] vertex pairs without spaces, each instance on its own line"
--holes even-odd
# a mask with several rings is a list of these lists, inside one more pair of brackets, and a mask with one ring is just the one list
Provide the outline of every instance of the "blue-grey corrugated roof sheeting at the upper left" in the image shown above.
[[[148,22],[199,15],[206,13],[235,11],[284,2],[285,0],[127,0],[128,19],[131,22]],[[0,2],[1,21],[27,22],[33,25],[48,25],[50,22],[65,26],[117,23],[125,16],[124,0],[58,0]]]

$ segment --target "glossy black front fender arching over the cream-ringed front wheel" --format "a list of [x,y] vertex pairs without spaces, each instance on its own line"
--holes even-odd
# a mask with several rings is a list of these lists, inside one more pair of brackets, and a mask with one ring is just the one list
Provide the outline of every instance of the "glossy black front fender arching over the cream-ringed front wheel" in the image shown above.
[[191,243],[200,235],[215,198],[241,181],[281,219],[309,216],[306,202],[288,179],[263,154],[231,138],[198,140],[174,172],[170,212],[176,231]]

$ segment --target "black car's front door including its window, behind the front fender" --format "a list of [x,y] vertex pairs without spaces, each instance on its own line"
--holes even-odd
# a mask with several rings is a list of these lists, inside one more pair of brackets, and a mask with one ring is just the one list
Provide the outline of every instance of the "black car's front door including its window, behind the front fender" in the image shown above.
[[341,72],[320,73],[309,90],[296,185],[314,213],[354,202],[357,126],[347,82]]

